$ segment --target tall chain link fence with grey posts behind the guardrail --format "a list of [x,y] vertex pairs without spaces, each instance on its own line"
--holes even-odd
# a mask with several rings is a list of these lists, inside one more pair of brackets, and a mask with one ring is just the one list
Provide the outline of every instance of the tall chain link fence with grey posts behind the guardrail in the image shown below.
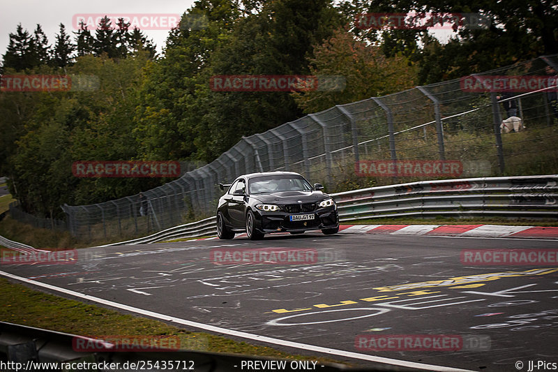
[[[299,172],[329,192],[441,178],[363,176],[356,168],[366,161],[460,161],[460,177],[558,173],[556,89],[541,83],[555,84],[556,71],[558,54],[337,105],[243,137],[212,163],[142,195],[62,209],[72,235],[117,240],[212,216],[222,194],[218,183],[251,172]],[[478,88],[504,76],[509,84],[517,77],[520,89]],[[520,117],[527,130],[500,134],[509,116]]]

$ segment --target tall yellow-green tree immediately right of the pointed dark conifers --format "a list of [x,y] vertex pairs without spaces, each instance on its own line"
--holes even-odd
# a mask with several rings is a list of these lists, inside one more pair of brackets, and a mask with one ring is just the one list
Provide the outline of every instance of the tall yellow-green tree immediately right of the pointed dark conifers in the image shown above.
[[[199,0],[169,33],[165,56],[148,64],[140,89],[134,133],[142,156],[161,160],[194,156],[196,126],[209,108],[203,98],[211,77],[211,55],[227,43],[239,17],[231,0]],[[203,27],[191,22],[199,19],[206,20]]]

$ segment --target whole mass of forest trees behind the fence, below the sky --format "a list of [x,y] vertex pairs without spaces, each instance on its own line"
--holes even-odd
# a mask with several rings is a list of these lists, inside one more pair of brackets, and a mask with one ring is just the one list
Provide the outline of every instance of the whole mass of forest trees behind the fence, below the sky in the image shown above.
[[[448,43],[424,30],[354,27],[360,13],[410,10],[481,13],[492,25],[459,29]],[[192,24],[195,17],[203,22]],[[160,57],[142,31],[128,27],[123,20],[110,24],[108,18],[95,31],[81,24],[72,42],[60,24],[52,47],[40,25],[31,34],[19,25],[9,35],[1,73],[91,75],[100,82],[96,91],[0,92],[0,175],[11,178],[10,191],[27,211],[59,217],[60,204],[103,202],[165,181],[77,179],[71,174],[74,161],[210,162],[243,135],[262,133],[304,113],[558,52],[558,13],[548,1],[198,0],[170,32]],[[341,75],[346,87],[223,92],[211,90],[215,75]],[[487,102],[481,97],[472,105]],[[493,126],[485,122],[487,112],[447,121],[444,127],[472,136],[455,138],[455,143],[475,144],[469,155],[478,158],[493,147],[485,142]],[[400,125],[411,119],[395,113],[395,121]],[[385,132],[378,117],[358,125],[368,138]],[[485,137],[474,137],[474,131]],[[424,151],[435,148],[424,137]],[[373,145],[383,149],[382,143]],[[447,151],[463,148],[448,146]],[[555,167],[533,158],[541,172]],[[352,166],[340,164],[347,168],[337,180],[340,189],[377,182],[355,179]]]

